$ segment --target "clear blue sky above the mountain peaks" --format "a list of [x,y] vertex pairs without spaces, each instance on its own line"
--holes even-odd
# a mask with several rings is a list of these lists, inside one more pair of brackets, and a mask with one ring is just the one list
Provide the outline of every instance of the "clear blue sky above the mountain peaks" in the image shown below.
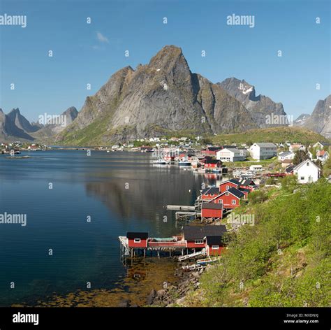
[[[182,48],[192,72],[212,82],[245,79],[294,117],[330,94],[327,0],[1,0],[4,13],[27,15],[27,27],[0,26],[0,107],[18,107],[33,121],[69,106],[80,110],[112,73],[146,64],[171,44]],[[233,13],[254,15],[255,27],[227,25]]]

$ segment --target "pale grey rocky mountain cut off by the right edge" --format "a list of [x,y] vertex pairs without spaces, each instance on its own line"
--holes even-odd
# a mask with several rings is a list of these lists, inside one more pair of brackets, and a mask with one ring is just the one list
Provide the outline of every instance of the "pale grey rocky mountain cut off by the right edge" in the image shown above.
[[314,111],[304,123],[304,127],[331,138],[331,95],[316,103]]

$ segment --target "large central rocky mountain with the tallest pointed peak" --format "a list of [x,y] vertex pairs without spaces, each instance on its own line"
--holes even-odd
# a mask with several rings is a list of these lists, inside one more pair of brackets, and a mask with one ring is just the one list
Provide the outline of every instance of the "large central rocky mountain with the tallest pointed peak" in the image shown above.
[[198,73],[180,48],[162,48],[149,64],[126,66],[87,99],[58,140],[102,144],[171,132],[192,134],[246,131],[258,125],[251,113]]

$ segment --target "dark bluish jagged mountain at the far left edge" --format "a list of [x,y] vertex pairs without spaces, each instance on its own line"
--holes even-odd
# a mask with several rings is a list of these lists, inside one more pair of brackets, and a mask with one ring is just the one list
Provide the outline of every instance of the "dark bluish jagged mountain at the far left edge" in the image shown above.
[[[18,110],[18,109],[17,109]],[[13,141],[16,139],[23,139],[33,141],[34,138],[27,134],[22,128],[15,124],[25,125],[25,118],[17,115],[17,111],[12,110],[8,115],[3,113],[0,109],[0,141]]]

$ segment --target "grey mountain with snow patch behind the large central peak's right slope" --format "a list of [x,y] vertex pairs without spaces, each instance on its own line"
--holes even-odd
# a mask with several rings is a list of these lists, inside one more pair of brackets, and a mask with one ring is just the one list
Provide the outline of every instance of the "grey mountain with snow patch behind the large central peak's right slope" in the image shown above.
[[[282,103],[276,103],[270,99],[270,97],[264,95],[256,96],[255,87],[245,80],[239,80],[237,78],[227,78],[222,82],[218,82],[228,94],[235,97],[240,101],[249,113],[254,122],[258,124],[260,128],[267,127],[277,127],[277,126],[286,126],[284,124],[270,124],[267,122],[267,115],[282,115],[286,116],[286,113],[283,108]],[[286,117],[280,117],[281,119],[286,119]]]

